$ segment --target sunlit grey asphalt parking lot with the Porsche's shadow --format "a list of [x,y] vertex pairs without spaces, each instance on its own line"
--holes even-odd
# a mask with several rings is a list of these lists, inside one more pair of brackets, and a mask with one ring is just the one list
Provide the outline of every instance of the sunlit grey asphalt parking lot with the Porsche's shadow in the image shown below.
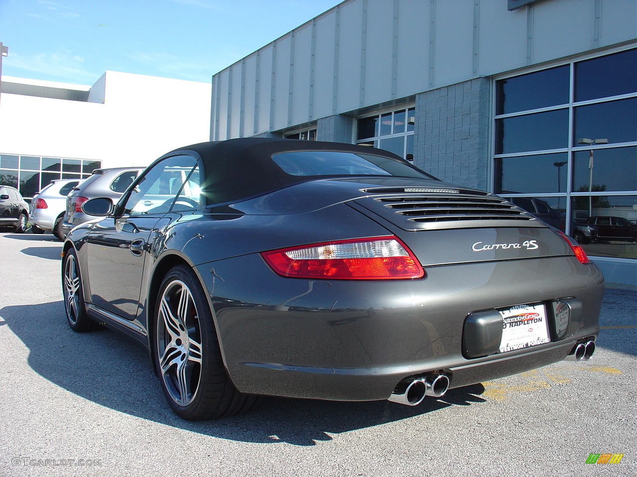
[[[637,291],[606,289],[587,362],[418,407],[271,398],[180,420],[146,352],[66,324],[61,242],[0,230],[0,474],[7,476],[633,476]],[[586,464],[591,453],[624,454]]]

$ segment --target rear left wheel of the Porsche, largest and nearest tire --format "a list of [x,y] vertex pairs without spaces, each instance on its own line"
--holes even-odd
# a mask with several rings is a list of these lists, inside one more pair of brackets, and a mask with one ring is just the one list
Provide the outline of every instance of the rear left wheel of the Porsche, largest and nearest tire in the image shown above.
[[228,377],[203,288],[185,265],[162,280],[154,313],[154,361],[168,404],[179,417],[204,420],[247,412],[259,396]]

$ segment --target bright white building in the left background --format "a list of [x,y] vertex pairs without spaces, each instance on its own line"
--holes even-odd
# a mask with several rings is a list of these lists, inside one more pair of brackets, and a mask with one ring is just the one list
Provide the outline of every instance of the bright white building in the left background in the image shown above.
[[210,134],[210,84],[106,71],[92,86],[3,76],[1,183],[32,197],[52,179],[145,166]]

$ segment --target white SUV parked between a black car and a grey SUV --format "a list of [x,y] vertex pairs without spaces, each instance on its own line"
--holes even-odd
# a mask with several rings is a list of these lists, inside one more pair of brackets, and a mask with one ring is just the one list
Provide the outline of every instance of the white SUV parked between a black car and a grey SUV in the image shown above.
[[66,212],[66,196],[82,181],[83,179],[57,179],[34,195],[29,218],[32,233],[53,232],[58,239],[64,239],[62,224]]

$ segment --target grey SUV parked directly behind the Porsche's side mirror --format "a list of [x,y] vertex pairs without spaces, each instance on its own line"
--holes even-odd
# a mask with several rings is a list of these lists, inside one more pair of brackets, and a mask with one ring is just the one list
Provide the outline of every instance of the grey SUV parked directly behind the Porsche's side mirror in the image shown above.
[[62,234],[68,235],[73,227],[94,217],[82,211],[82,204],[92,197],[108,197],[117,202],[124,191],[132,184],[143,167],[115,167],[96,169],[80,185],[74,187],[66,197],[66,213],[62,222]]

